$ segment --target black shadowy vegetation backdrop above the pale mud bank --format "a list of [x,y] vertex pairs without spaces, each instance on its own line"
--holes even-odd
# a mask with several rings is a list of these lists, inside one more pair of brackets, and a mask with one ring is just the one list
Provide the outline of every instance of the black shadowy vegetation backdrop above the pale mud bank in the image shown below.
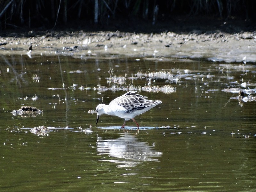
[[[254,0],[8,0],[0,2],[0,35],[29,37],[49,31],[79,30],[253,32],[256,30],[255,8]],[[34,33],[29,32],[31,30]]]

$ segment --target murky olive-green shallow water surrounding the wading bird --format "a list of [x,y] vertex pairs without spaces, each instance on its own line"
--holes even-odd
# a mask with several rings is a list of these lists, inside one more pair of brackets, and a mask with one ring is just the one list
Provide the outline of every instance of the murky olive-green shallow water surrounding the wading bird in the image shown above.
[[[0,191],[256,189],[256,103],[224,90],[253,91],[255,63],[11,55],[0,70]],[[139,131],[107,115],[96,126],[88,111],[127,90],[163,102]],[[12,115],[21,106],[43,113]]]

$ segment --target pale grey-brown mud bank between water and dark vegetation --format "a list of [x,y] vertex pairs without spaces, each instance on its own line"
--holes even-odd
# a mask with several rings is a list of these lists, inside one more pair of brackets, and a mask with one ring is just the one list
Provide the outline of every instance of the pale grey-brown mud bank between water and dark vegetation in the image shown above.
[[[30,37],[28,37],[30,36]],[[225,33],[192,31],[186,34],[125,32],[34,32],[2,37],[0,54],[138,57],[156,60],[205,59],[256,62],[256,31]],[[29,46],[32,51],[28,53]]]

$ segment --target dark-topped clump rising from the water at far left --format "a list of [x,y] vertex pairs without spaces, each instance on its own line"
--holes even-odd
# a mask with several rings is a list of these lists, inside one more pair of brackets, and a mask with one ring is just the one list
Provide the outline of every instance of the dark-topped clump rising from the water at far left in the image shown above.
[[18,110],[14,109],[11,113],[14,116],[20,115],[21,117],[36,117],[37,115],[43,113],[43,111],[36,107],[22,106]]

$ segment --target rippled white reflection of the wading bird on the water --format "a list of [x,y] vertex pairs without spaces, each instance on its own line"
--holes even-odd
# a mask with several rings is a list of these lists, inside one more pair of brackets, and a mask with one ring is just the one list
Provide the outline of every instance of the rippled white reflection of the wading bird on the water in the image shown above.
[[[113,163],[121,163],[123,167],[134,167],[142,161],[159,161],[157,157],[162,152],[148,146],[148,143],[139,141],[132,135],[124,135],[118,139],[97,139],[98,155],[108,154],[109,157],[121,158],[124,160],[109,159]],[[102,160],[102,159],[101,159]],[[105,160],[106,161],[106,160]]]

